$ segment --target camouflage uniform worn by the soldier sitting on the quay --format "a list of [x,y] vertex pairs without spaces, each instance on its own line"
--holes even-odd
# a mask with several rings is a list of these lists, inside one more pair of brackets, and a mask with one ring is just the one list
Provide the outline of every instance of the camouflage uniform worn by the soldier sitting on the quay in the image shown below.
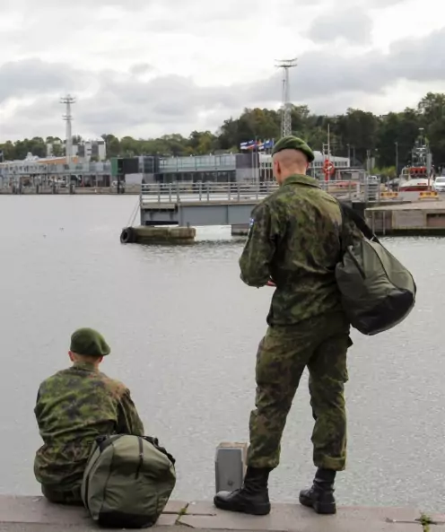
[[40,384],[34,409],[44,445],[34,474],[40,484],[70,490],[82,484],[94,440],[105,434],[144,435],[129,390],[86,363],[74,363]]

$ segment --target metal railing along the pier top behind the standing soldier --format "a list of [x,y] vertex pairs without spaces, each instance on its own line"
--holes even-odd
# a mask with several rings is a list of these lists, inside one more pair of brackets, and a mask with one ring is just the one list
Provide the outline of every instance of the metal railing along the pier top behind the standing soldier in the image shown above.
[[[320,181],[319,187],[333,196],[358,196],[357,181]],[[141,186],[142,202],[181,203],[188,201],[243,201],[262,199],[278,188],[275,181],[260,183],[148,183]]]

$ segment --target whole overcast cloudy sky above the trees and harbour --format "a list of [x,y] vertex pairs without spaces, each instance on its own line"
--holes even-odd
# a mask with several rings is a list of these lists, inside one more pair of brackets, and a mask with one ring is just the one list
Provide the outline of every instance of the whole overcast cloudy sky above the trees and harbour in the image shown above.
[[215,131],[292,101],[375,113],[445,92],[441,0],[0,0],[0,142]]

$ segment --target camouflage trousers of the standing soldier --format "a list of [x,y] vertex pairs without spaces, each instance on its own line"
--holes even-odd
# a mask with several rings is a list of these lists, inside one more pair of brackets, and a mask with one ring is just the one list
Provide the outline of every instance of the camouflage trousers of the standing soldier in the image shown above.
[[346,353],[352,345],[343,313],[310,318],[292,327],[269,327],[257,351],[256,409],[250,414],[250,467],[275,468],[287,414],[309,370],[316,467],[342,471],[346,462]]

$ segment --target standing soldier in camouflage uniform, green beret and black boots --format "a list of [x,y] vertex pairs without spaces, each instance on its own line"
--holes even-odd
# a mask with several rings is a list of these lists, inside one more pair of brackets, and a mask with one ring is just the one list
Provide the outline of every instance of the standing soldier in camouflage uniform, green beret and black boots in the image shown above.
[[307,367],[318,470],[300,502],[318,513],[336,512],[334,481],[346,459],[346,352],[352,342],[335,276],[342,214],[336,199],[306,176],[313,160],[310,147],[294,136],[275,145],[280,188],[255,207],[240,257],[244,283],[276,288],[257,352],[248,469],[240,490],[215,495],[215,506],[223,510],[269,513],[268,476],[278,466],[286,417]]

